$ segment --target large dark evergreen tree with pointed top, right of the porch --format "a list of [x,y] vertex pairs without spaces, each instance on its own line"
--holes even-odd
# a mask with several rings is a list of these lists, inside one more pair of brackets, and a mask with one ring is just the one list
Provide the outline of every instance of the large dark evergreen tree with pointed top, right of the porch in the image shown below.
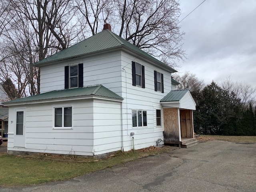
[[239,121],[240,100],[229,94],[215,82],[206,86],[198,96],[198,107],[194,112],[196,132],[203,134],[236,134]]

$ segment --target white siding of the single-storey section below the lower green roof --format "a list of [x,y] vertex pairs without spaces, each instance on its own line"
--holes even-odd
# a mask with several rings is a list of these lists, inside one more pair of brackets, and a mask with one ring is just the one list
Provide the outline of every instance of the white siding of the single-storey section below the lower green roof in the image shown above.
[[[58,105],[68,106],[68,103]],[[120,102],[92,99],[72,101],[73,129],[52,129],[54,107],[58,108],[56,103],[54,106],[27,106],[26,148],[13,148],[10,134],[8,150],[86,156],[121,150]],[[14,119],[13,109],[10,107],[10,120]],[[11,124],[9,128],[12,132],[15,126]]]

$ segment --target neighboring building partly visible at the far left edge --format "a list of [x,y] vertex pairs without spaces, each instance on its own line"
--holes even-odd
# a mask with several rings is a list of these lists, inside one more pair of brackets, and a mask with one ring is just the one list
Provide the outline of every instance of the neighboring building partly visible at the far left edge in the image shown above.
[[10,98],[0,84],[0,136],[4,140],[7,140],[8,136],[8,107],[4,106],[2,103],[9,100]]

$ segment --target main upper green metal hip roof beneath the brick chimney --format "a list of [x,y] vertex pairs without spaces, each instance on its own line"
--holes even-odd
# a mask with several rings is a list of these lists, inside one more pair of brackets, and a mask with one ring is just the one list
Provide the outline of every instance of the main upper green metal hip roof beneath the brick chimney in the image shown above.
[[158,63],[160,66],[165,67],[166,69],[170,70],[171,72],[177,72],[170,66],[164,64],[163,62],[159,61],[158,59],[154,58],[150,54],[142,51],[137,46],[131,44],[130,42],[124,40],[120,36],[114,34],[109,30],[103,30],[102,32],[87,38],[69,48],[66,48],[52,56],[49,56],[43,60],[40,60],[34,64],[34,66],[40,66],[40,64],[47,64],[52,63],[60,60],[71,59],[76,57],[85,56],[86,54],[92,54],[104,50],[108,50],[111,48],[118,48],[118,47],[126,47],[130,50],[137,52],[138,54],[145,56],[146,58],[153,60],[154,62]]

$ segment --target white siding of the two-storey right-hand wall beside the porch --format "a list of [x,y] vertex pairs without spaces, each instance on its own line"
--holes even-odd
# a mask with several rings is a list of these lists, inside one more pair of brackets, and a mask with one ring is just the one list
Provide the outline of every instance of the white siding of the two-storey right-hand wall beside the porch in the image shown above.
[[[132,61],[144,66],[145,88],[132,86]],[[138,56],[131,56],[122,52],[122,123],[124,135],[124,150],[132,149],[132,137],[134,137],[134,148],[140,149],[156,145],[158,138],[163,139],[163,125],[156,128],[155,110],[162,109],[160,100],[171,90],[171,73],[142,60]],[[159,71],[164,76],[164,93],[154,91],[154,70]],[[127,108],[127,109],[126,109]],[[132,127],[132,110],[147,111],[147,127]],[[133,136],[130,133],[134,132]]]

